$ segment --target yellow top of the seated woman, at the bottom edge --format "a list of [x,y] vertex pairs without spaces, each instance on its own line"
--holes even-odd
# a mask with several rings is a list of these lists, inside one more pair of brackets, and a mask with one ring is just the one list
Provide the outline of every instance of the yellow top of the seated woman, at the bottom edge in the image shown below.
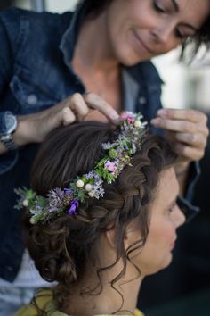
[[[49,289],[42,290],[36,296],[36,304],[41,310],[47,312],[47,316],[69,316],[64,312],[56,311],[55,304],[52,300],[52,291]],[[20,308],[13,316],[37,316],[36,307],[33,304],[28,304]],[[110,316],[108,314],[94,316]],[[127,315],[131,316],[131,315]],[[135,309],[133,316],[144,316],[143,313]]]

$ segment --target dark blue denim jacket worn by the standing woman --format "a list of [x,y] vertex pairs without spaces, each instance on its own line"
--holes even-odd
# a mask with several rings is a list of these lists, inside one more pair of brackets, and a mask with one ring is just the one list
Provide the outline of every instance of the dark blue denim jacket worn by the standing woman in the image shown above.
[[[36,13],[0,12],[0,129],[6,111],[24,115],[47,109],[85,87],[71,66],[83,10]],[[126,110],[141,111],[150,121],[161,107],[162,81],[151,62],[122,66]],[[155,129],[154,129],[155,130]],[[158,132],[158,130],[155,130]],[[20,269],[24,246],[20,212],[14,210],[14,187],[29,185],[38,145],[0,155],[0,277],[11,281]],[[190,195],[195,180],[190,184]]]

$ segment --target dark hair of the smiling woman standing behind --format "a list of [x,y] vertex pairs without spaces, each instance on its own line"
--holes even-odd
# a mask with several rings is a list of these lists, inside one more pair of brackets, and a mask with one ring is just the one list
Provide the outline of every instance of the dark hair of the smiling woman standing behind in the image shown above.
[[[90,18],[95,18],[98,16],[101,12],[103,12],[109,4],[111,4],[115,0],[80,0],[77,4],[77,6],[82,5],[85,8],[85,14],[86,16],[89,16]],[[188,37],[183,43],[182,43],[182,52],[180,55],[180,60],[185,59],[185,51],[186,47],[190,46],[190,60],[192,60],[195,55],[198,53],[198,50],[200,46],[203,44],[206,46],[206,50],[210,46],[210,12],[209,16],[206,19],[205,23],[202,25],[201,29],[198,30],[198,32],[193,37]]]

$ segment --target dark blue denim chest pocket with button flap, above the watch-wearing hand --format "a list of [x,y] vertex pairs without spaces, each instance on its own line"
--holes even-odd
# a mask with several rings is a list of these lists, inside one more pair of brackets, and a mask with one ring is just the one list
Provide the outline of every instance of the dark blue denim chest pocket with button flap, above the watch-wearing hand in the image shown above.
[[39,112],[60,101],[52,96],[43,84],[36,83],[36,79],[29,76],[27,71],[18,71],[14,74],[10,87],[13,96],[20,104],[20,108],[17,109],[19,114]]

